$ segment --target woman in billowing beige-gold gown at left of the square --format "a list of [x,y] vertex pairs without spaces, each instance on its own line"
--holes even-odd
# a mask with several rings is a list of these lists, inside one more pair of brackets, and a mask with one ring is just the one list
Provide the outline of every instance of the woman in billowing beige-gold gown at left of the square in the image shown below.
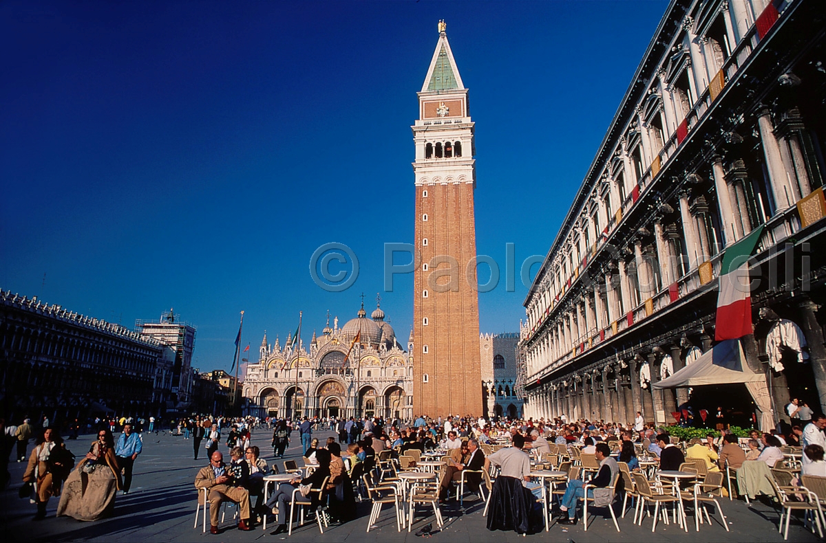
[[96,521],[115,510],[115,495],[121,489],[121,470],[115,457],[115,438],[109,430],[97,432],[97,441],[78,463],[64,484],[57,516],[78,521]]

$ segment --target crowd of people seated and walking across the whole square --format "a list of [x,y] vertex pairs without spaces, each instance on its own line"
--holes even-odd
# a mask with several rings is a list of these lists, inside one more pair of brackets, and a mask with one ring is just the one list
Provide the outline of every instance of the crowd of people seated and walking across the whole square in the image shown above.
[[[799,413],[795,408],[793,414]],[[806,475],[826,477],[826,416],[821,413],[811,413],[803,427],[798,419],[795,424],[771,432],[752,430],[748,437],[738,437],[724,428],[687,442],[670,436],[664,427],[644,421],[641,413],[629,423],[568,421],[564,417],[488,421],[472,416],[425,415],[406,421],[192,416],[170,419],[164,429],[158,420],[146,422],[146,426],[141,426],[140,421],[129,418],[97,421],[97,439],[75,465],[78,459],[47,419],[32,424],[26,418],[15,427],[0,420],[4,436],[2,457],[7,463],[13,453],[15,460],[27,462],[20,494],[36,504],[36,519],[44,518],[46,503],[52,496],[59,496],[58,516],[90,521],[112,513],[118,491],[129,492],[132,468],[142,451],[139,429],[169,431],[192,439],[193,459],[197,460],[199,453],[205,451],[209,461],[198,471],[195,486],[199,500],[211,504],[211,533],[218,533],[218,514],[223,502],[238,504],[237,527],[242,531],[251,530],[267,514],[274,514],[277,519],[274,533],[287,531],[287,511],[294,493],[311,488],[318,489],[311,493],[311,514],[324,515],[329,522],[349,522],[356,517],[355,498],[366,496],[366,486],[380,484],[387,476],[380,457],[390,459],[392,465],[401,469],[400,460],[421,458],[435,454],[434,451],[439,451],[444,460],[436,479],[439,503],[457,494],[453,489],[460,480],[463,488],[483,496],[482,472],[496,473],[487,497],[487,526],[491,530],[520,533],[541,529],[543,517],[539,512],[551,507],[550,503],[538,503],[542,486],[532,474],[538,467],[564,466],[570,470],[563,457],[570,460],[592,455],[597,465],[591,470],[590,479],[579,471],[565,479],[553,503],[553,512],[558,514],[556,522],[560,524],[577,523],[577,508],[583,499],[592,499],[597,507],[610,505],[615,496],[624,492],[623,481],[628,480],[619,477],[621,470],[629,474],[644,474],[647,470],[652,474],[673,472],[684,470],[686,462],[699,461],[705,466],[704,472],[725,472],[733,477],[733,495],[748,494],[751,492],[741,487],[752,484],[750,475],[743,475],[751,468],[746,470],[744,465],[748,468],[757,463],[767,470],[775,469],[784,462],[791,447],[799,446],[801,467],[792,484],[800,484],[800,477]],[[256,431],[272,435],[274,459],[283,458],[294,440],[300,442],[301,456],[309,468],[296,471],[292,478],[271,487],[266,502],[264,477],[278,473],[279,467],[265,458],[268,451],[252,445]],[[319,431],[332,432],[333,437],[320,442],[313,436]],[[30,453],[28,443],[32,438],[35,447]],[[552,461],[550,456],[554,458],[553,465],[545,465]],[[412,467],[415,462],[407,463],[406,468]],[[467,473],[463,475],[463,471]],[[7,479],[7,469],[2,472]],[[728,493],[728,489],[721,492]]]

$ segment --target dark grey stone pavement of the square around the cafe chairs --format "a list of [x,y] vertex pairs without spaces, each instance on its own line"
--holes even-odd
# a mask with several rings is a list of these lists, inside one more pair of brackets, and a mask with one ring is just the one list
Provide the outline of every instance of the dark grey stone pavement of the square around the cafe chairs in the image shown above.
[[[331,432],[316,432],[323,443]],[[261,448],[264,458],[273,462],[272,448],[269,443],[272,434],[266,428],[254,432],[253,444]],[[75,455],[85,454],[93,436],[82,436],[78,441],[67,441],[67,446]],[[300,459],[300,440],[297,432],[293,433],[290,448],[285,459]],[[31,447],[30,447],[31,451]],[[221,446],[225,457],[226,447]],[[279,467],[282,460],[278,460]],[[465,501],[465,511],[461,512],[453,503],[444,506],[442,514],[445,521],[444,530],[430,538],[417,537],[415,531],[433,522],[425,519],[424,508],[420,508],[419,519],[413,531],[399,533],[389,506],[385,506],[379,518],[378,528],[365,533],[370,506],[368,503],[358,505],[358,518],[341,526],[330,526],[323,535],[319,534],[315,523],[307,524],[293,531],[292,538],[286,535],[272,536],[275,529],[268,523],[267,531],[256,526],[253,531],[236,530],[228,518],[221,525],[221,533],[212,536],[207,530],[202,533],[201,526],[192,528],[194,521],[197,492],[194,487],[197,470],[207,465],[206,451],[199,454],[199,460],[192,460],[192,441],[183,437],[167,434],[144,434],[144,451],[135,462],[135,475],[129,494],[118,493],[115,515],[98,522],[79,522],[69,517],[55,518],[58,500],[52,498],[49,503],[49,517],[42,522],[32,522],[35,506],[27,499],[17,498],[17,489],[21,484],[23,463],[12,462],[12,485],[0,493],[0,522],[3,526],[3,541],[449,541],[464,543],[473,541],[783,541],[777,532],[778,513],[762,503],[755,503],[748,508],[745,503],[725,500],[724,513],[729,519],[727,533],[719,524],[719,516],[712,519],[714,524],[700,526],[700,532],[694,531],[694,519],[689,517],[689,532],[681,531],[670,524],[657,525],[656,535],[651,533],[651,519],[643,521],[643,526],[634,526],[631,515],[619,519],[620,533],[613,523],[603,517],[592,517],[588,531],[582,529],[582,522],[576,526],[551,526],[550,531],[521,537],[514,532],[488,531],[485,518],[482,517],[483,505],[474,502],[471,497]],[[301,462],[299,462],[301,465]],[[228,509],[231,514],[231,509]],[[229,516],[229,515],[228,515]],[[433,523],[434,531],[437,529]],[[817,537],[806,531],[800,524],[793,522],[789,528],[789,541],[817,541]]]

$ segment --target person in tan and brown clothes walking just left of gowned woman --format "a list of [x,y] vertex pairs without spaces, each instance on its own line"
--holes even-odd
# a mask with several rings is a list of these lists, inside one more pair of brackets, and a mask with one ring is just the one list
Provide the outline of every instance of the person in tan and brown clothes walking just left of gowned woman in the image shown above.
[[[45,427],[38,435],[35,450],[31,451],[23,482],[34,484],[37,514],[35,520],[46,517],[46,503],[58,493],[60,484],[72,469],[71,459],[63,446],[63,438],[52,427]],[[71,453],[69,453],[71,454]],[[68,460],[68,464],[67,464]]]

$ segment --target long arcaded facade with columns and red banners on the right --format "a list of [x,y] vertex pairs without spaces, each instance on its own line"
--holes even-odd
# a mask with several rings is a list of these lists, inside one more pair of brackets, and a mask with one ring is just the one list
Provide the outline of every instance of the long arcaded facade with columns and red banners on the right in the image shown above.
[[761,228],[743,414],[826,408],[824,14],[668,5],[525,299],[527,416],[673,423],[702,387],[653,385],[714,347],[722,256]]

